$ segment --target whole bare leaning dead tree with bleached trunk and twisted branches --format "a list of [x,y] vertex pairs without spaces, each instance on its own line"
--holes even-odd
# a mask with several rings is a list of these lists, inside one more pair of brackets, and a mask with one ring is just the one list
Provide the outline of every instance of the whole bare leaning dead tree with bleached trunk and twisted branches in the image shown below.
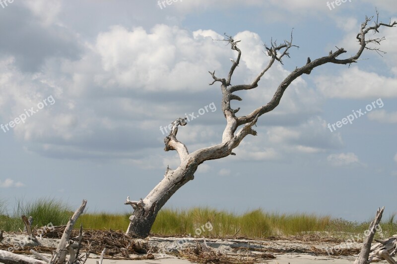
[[[273,98],[265,105],[258,107],[248,115],[238,116],[236,113],[240,108],[234,109],[231,107],[231,101],[242,99],[234,93],[242,90],[251,90],[258,87],[258,83],[264,74],[270,69],[270,67],[277,61],[283,63],[284,57],[289,57],[289,50],[292,47],[297,47],[292,44],[292,33],[289,41],[277,44],[271,41],[270,46],[265,45],[265,54],[270,57],[268,64],[262,70],[261,73],[250,83],[231,85],[232,75],[234,70],[240,63],[241,51],[238,48],[240,40],[234,40],[232,37],[226,36],[224,41],[230,44],[231,49],[238,53],[237,59],[232,61],[227,78],[219,78],[215,75],[215,71],[209,72],[212,76],[213,82],[220,84],[222,92],[222,112],[226,118],[227,124],[223,131],[222,142],[217,145],[209,146],[206,148],[199,149],[193,153],[189,153],[188,148],[185,144],[177,139],[178,127],[185,126],[187,124],[185,118],[178,118],[172,122],[172,129],[170,134],[164,139],[165,151],[177,151],[179,158],[181,159],[180,165],[175,169],[167,170],[164,174],[164,178],[159,184],[144,198],[139,201],[131,201],[129,197],[125,202],[126,205],[131,205],[134,209],[130,216],[130,225],[127,233],[136,237],[147,237],[149,235],[151,226],[157,216],[158,211],[164,206],[164,204],[170,199],[170,197],[184,184],[194,179],[194,173],[198,166],[206,160],[224,158],[229,155],[235,155],[233,149],[237,148],[240,142],[247,136],[256,136],[257,132],[253,129],[256,125],[258,118],[273,110],[278,104],[284,94],[284,91],[288,86],[299,76],[303,74],[310,74],[312,70],[318,66],[326,63],[334,64],[351,64],[357,62],[364,50],[375,50],[381,53],[379,48],[368,47],[369,44],[380,45],[381,41],[385,38],[366,38],[369,32],[374,34],[379,33],[379,29],[384,27],[394,27],[397,22],[390,22],[388,24],[378,22],[378,14],[373,26],[369,26],[368,23],[372,21],[374,17],[366,17],[365,21],[361,24],[360,32],[356,38],[359,42],[359,49],[357,53],[351,57],[339,59],[338,57],[346,53],[343,48],[336,48],[336,51],[330,52],[327,56],[323,56],[317,59],[307,59],[306,63],[297,67],[292,71],[277,87]],[[372,37],[372,35],[371,35]],[[277,63],[276,62],[276,63]]]

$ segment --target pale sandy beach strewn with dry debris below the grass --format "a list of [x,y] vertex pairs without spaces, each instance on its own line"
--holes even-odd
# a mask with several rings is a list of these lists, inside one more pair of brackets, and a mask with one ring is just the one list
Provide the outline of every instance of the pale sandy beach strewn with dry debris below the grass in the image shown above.
[[[5,239],[0,243],[1,249],[4,250],[6,244],[11,241],[26,239],[26,236],[20,234],[6,234]],[[59,239],[40,240],[42,245],[55,249]],[[131,252],[128,257],[121,251],[117,254],[105,254],[103,264],[189,264],[195,263],[186,259],[187,254],[192,253],[197,247],[205,248],[207,252],[214,253],[211,256],[222,256],[223,258],[234,258],[241,260],[242,263],[248,260],[254,260],[255,263],[269,264],[348,264],[355,260],[354,253],[361,247],[360,243],[355,243],[348,251],[339,252],[338,256],[329,256],[327,250],[340,245],[341,241],[337,239],[322,239],[316,236],[286,237],[286,238],[269,238],[265,240],[248,240],[248,239],[204,239],[192,237],[149,237],[147,239],[137,239],[132,243],[141,245],[146,249],[145,253],[136,254]],[[105,243],[106,244],[106,243]],[[108,247],[105,245],[104,247]],[[37,250],[37,249],[36,249]],[[43,253],[50,257],[51,255]],[[113,251],[114,252],[114,251]],[[117,252],[117,251],[116,251]],[[18,252],[15,252],[18,253]],[[29,255],[29,246],[24,247],[24,253]],[[20,254],[20,253],[18,253]],[[266,257],[264,257],[266,255]],[[139,258],[150,259],[135,260]],[[194,256],[194,255],[192,255]],[[184,258],[183,258],[184,257]],[[195,256],[194,256],[195,257]],[[201,256],[199,256],[199,259]],[[261,259],[264,258],[264,259]],[[267,259],[266,259],[267,258]],[[271,258],[271,259],[270,259]],[[90,254],[87,264],[95,264],[99,255]],[[208,262],[210,263],[210,262]],[[223,262],[217,262],[223,263]]]

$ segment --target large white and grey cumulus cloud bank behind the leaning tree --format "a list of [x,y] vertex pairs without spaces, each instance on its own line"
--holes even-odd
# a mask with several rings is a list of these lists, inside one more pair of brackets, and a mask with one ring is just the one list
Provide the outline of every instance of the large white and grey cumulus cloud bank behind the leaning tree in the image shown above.
[[[188,32],[163,24],[148,31],[113,26],[99,33],[92,43],[86,42],[81,58],[49,59],[40,73],[21,72],[15,58],[8,56],[0,60],[0,114],[12,120],[23,109],[53,95],[57,102],[54,107],[44,109],[14,130],[19,139],[30,143],[28,150],[58,158],[122,158],[152,168],[153,163],[141,160],[136,150],[161,150],[164,134],[160,126],[193,111],[197,114],[199,108],[219,96],[218,90],[208,86],[211,77],[207,71],[214,69],[218,76],[225,76],[229,57],[236,55],[223,42],[213,41],[223,37],[213,30]],[[251,82],[269,59],[262,52],[263,41],[250,31],[234,38],[241,39],[243,55],[232,81]],[[242,108],[241,114],[265,104],[288,73],[282,65],[274,64],[260,87],[236,103]],[[299,126],[318,113],[321,104],[319,94],[298,78],[276,111],[264,115],[263,120],[265,125]],[[215,105],[220,109],[218,103]],[[181,129],[179,139],[190,151],[219,143],[223,131],[219,124],[223,122],[220,112],[209,111]],[[300,129],[309,129],[307,125]],[[300,133],[300,138],[308,141],[309,134],[313,133]],[[313,153],[322,148],[295,141],[290,151]],[[280,157],[273,147],[246,153],[254,160]],[[158,160],[154,156],[148,160]]]

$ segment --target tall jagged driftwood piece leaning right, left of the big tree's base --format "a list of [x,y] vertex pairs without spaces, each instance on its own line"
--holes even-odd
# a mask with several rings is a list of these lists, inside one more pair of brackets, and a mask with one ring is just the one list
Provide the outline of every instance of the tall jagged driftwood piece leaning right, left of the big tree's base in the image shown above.
[[[61,241],[58,244],[58,248],[56,250],[57,257],[51,259],[49,264],[59,263],[64,264],[66,261],[66,254],[67,249],[66,246],[68,245],[70,233],[73,230],[74,223],[77,221],[77,218],[83,213],[85,206],[87,205],[87,200],[83,200],[81,206],[74,212],[74,214],[70,217],[69,221],[67,222],[64,234],[61,237]],[[57,260],[58,259],[58,260]]]

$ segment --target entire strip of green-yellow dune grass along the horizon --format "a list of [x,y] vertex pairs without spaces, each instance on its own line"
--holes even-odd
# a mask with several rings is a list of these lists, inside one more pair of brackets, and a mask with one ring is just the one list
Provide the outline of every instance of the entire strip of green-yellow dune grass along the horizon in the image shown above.
[[[50,222],[66,224],[72,215],[70,207],[54,199],[39,199],[33,202],[16,201],[13,212],[8,214],[6,203],[0,200],[0,230],[23,229],[21,215],[33,216],[34,225],[44,226]],[[126,231],[130,213],[88,212],[82,214],[76,227],[83,223],[87,229],[113,229]],[[396,214],[381,224],[383,235],[397,234]],[[369,221],[352,222],[330,216],[309,213],[265,212],[261,209],[237,214],[211,208],[162,209],[152,227],[152,233],[162,235],[189,235],[205,237],[229,237],[234,235],[249,238],[288,236],[320,233],[328,236],[347,238],[363,234]],[[377,233],[376,237],[380,237]]]

